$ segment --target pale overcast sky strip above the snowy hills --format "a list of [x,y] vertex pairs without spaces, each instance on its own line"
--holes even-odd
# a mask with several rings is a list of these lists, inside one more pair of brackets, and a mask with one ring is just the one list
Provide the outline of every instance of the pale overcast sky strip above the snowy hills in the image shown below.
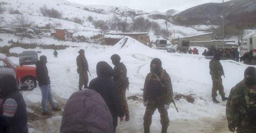
[[[169,9],[183,11],[190,7],[204,3],[222,3],[222,0],[67,0],[82,5],[109,5],[109,6],[127,6],[132,9],[143,11],[161,11]],[[229,0],[224,0],[229,1]]]

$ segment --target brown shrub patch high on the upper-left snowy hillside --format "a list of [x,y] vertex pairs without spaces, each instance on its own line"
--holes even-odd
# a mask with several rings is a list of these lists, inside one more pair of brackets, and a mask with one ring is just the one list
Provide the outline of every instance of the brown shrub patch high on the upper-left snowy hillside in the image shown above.
[[48,9],[47,7],[41,7],[40,8],[40,12],[43,16],[47,16],[47,17],[53,17],[53,18],[61,18],[62,14],[55,9]]

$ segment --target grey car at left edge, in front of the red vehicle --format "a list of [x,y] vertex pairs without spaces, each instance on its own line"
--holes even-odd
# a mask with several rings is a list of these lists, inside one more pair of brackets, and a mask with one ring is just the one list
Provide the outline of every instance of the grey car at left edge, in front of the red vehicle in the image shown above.
[[18,76],[16,75],[15,71],[11,68],[0,68],[0,79],[4,76],[13,76],[16,79],[17,86],[20,91],[27,91],[29,86],[28,85],[22,85],[20,83],[20,80]]

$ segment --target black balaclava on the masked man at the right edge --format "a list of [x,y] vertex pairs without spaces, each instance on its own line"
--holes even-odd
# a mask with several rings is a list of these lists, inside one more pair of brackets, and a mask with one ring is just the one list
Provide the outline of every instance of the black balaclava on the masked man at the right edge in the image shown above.
[[[250,76],[250,77],[247,77]],[[244,72],[244,81],[245,84],[248,86],[252,86],[256,84],[256,71],[255,68],[252,66],[249,66],[245,72]]]

